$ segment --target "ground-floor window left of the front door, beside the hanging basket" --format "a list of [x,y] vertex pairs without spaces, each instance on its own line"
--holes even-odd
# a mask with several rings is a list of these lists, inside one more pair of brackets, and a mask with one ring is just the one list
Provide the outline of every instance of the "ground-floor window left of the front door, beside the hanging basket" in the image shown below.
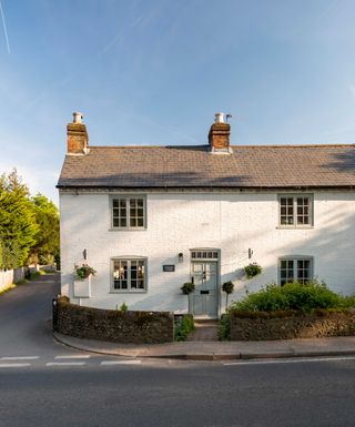
[[112,260],[113,291],[146,291],[145,258]]

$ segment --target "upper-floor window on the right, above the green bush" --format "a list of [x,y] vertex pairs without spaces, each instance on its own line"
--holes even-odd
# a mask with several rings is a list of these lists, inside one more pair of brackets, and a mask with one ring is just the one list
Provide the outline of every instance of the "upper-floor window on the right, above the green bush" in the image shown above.
[[313,197],[310,194],[280,195],[281,226],[312,226]]

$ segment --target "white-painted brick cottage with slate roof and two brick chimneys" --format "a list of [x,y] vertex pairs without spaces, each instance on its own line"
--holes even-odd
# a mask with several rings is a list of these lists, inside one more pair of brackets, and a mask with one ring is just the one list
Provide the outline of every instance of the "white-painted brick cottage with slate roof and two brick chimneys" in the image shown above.
[[[58,187],[74,303],[185,313],[193,281],[190,311],[213,318],[226,281],[231,299],[312,277],[355,293],[355,145],[232,146],[220,114],[207,145],[89,146],[77,113]],[[246,279],[252,262],[263,273]],[[82,263],[90,286],[74,286]]]

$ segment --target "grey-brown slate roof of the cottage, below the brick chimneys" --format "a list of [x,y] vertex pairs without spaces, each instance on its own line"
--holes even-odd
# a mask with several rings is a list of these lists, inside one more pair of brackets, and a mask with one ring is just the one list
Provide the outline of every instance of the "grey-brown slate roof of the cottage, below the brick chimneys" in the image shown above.
[[355,189],[355,144],[91,146],[67,154],[58,187]]

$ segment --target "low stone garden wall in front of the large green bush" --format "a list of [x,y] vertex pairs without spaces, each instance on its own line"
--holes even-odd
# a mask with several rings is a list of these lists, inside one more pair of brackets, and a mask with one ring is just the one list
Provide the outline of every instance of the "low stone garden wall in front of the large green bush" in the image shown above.
[[355,312],[320,312],[292,317],[239,317],[231,314],[231,340],[320,338],[355,335]]

